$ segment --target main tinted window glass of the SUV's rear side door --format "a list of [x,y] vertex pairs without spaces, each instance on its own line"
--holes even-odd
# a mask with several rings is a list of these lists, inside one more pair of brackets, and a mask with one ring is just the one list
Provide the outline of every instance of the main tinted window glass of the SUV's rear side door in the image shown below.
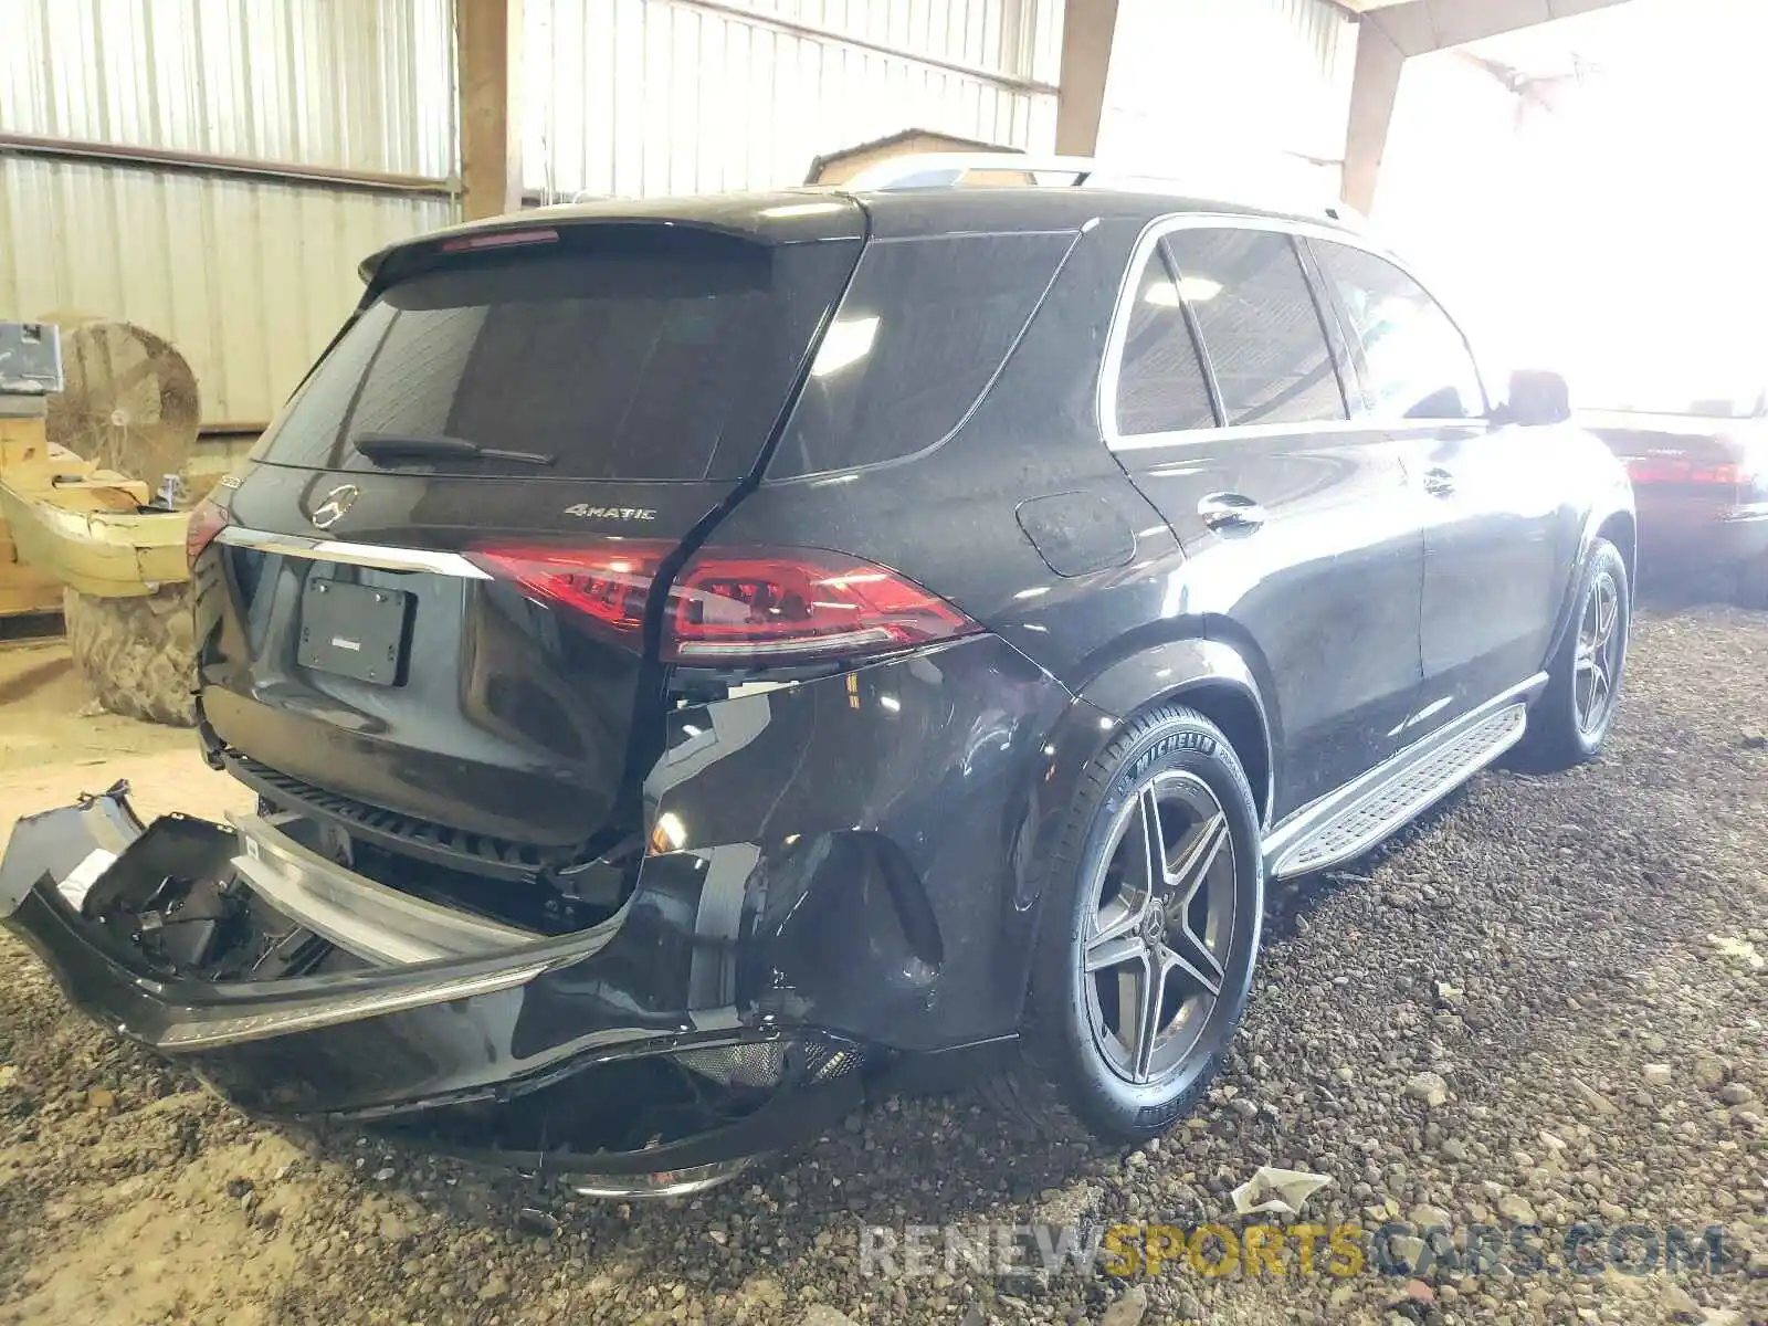
[[1326,329],[1289,235],[1174,230],[1162,246],[1197,318],[1223,423],[1347,417]]

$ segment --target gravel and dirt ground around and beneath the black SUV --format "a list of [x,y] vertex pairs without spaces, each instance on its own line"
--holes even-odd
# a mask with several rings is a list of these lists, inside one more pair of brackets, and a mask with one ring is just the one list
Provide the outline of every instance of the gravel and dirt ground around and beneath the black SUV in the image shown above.
[[[1653,606],[1605,757],[1489,773],[1285,893],[1209,1109],[1128,1155],[891,1100],[700,1199],[564,1200],[249,1124],[0,941],[0,1322],[1768,1322],[1764,711],[1768,617]],[[0,776],[0,831],[108,774]],[[1324,1225],[1520,1220],[1552,1248],[1581,1220],[1720,1223],[1734,1261],[1409,1282],[1298,1275],[1291,1245],[1284,1276],[859,1273],[865,1227],[1231,1218],[1261,1163],[1328,1176]],[[557,1232],[518,1232],[527,1204]]]

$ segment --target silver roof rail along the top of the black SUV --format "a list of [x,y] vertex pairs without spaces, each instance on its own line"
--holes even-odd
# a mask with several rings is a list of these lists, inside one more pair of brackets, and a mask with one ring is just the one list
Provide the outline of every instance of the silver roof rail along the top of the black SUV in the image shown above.
[[[1033,187],[1109,187],[1144,193],[1177,193],[1188,198],[1222,198],[1305,216],[1326,216],[1342,226],[1367,230],[1368,221],[1337,198],[1322,198],[1314,189],[1296,187],[1223,187],[1206,177],[1183,179],[1146,171],[1126,171],[1094,157],[1036,156],[1031,152],[923,152],[888,157],[866,166],[838,187],[852,193],[891,189],[942,189],[964,182],[967,175],[1025,175]],[[1050,179],[1055,177],[1055,179]]]

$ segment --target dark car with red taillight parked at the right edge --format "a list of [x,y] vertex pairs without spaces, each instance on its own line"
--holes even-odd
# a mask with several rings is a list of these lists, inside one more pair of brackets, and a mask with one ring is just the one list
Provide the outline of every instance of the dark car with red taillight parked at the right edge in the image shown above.
[[1768,387],[1634,401],[1579,421],[1627,465],[1641,560],[1734,573],[1741,601],[1768,606]]

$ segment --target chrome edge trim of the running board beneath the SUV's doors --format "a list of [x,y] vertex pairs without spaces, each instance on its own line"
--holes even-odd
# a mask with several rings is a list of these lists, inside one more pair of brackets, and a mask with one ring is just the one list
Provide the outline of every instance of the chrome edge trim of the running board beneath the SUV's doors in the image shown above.
[[1480,757],[1471,764],[1457,766],[1457,769],[1423,797],[1413,797],[1406,803],[1402,812],[1395,817],[1384,819],[1374,831],[1363,834],[1345,850],[1335,852],[1331,859],[1308,863],[1305,870],[1296,870],[1291,863],[1307,847],[1308,840],[1321,833],[1326,833],[1340,820],[1354,815],[1370,801],[1381,797],[1381,794],[1411,773],[1416,766],[1427,762],[1432,755],[1439,753],[1444,746],[1455,744],[1460,737],[1466,737],[1471,730],[1478,728],[1482,723],[1497,718],[1506,709],[1515,705],[1526,705],[1547,686],[1547,674],[1538,672],[1529,677],[1520,686],[1512,686],[1508,691],[1487,700],[1478,709],[1462,714],[1453,723],[1446,723],[1436,732],[1429,732],[1411,746],[1390,755],[1386,760],[1377,764],[1374,769],[1345,783],[1337,792],[1328,792],[1319,801],[1314,801],[1301,810],[1289,815],[1282,824],[1278,824],[1264,838],[1264,872],[1269,879],[1284,879],[1292,873],[1310,873],[1314,870],[1324,870],[1337,861],[1347,861],[1353,856],[1368,850],[1377,842],[1386,838],[1397,827],[1411,819],[1416,819],[1420,812],[1436,804],[1444,796],[1448,796],[1460,783],[1467,781],[1473,774],[1483,769],[1487,764],[1503,755],[1510,746],[1522,739],[1528,730],[1528,723],[1519,723],[1513,730],[1506,730],[1499,741],[1494,741],[1489,748],[1482,750]]

